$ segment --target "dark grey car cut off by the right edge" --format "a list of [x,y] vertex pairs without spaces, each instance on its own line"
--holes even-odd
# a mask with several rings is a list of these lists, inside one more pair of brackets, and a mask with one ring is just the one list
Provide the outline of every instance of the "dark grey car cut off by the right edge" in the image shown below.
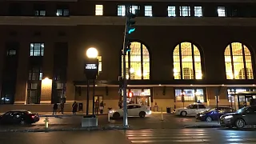
[[220,124],[226,127],[236,126],[237,128],[256,125],[256,106],[245,106],[235,113],[224,114],[220,118]]

